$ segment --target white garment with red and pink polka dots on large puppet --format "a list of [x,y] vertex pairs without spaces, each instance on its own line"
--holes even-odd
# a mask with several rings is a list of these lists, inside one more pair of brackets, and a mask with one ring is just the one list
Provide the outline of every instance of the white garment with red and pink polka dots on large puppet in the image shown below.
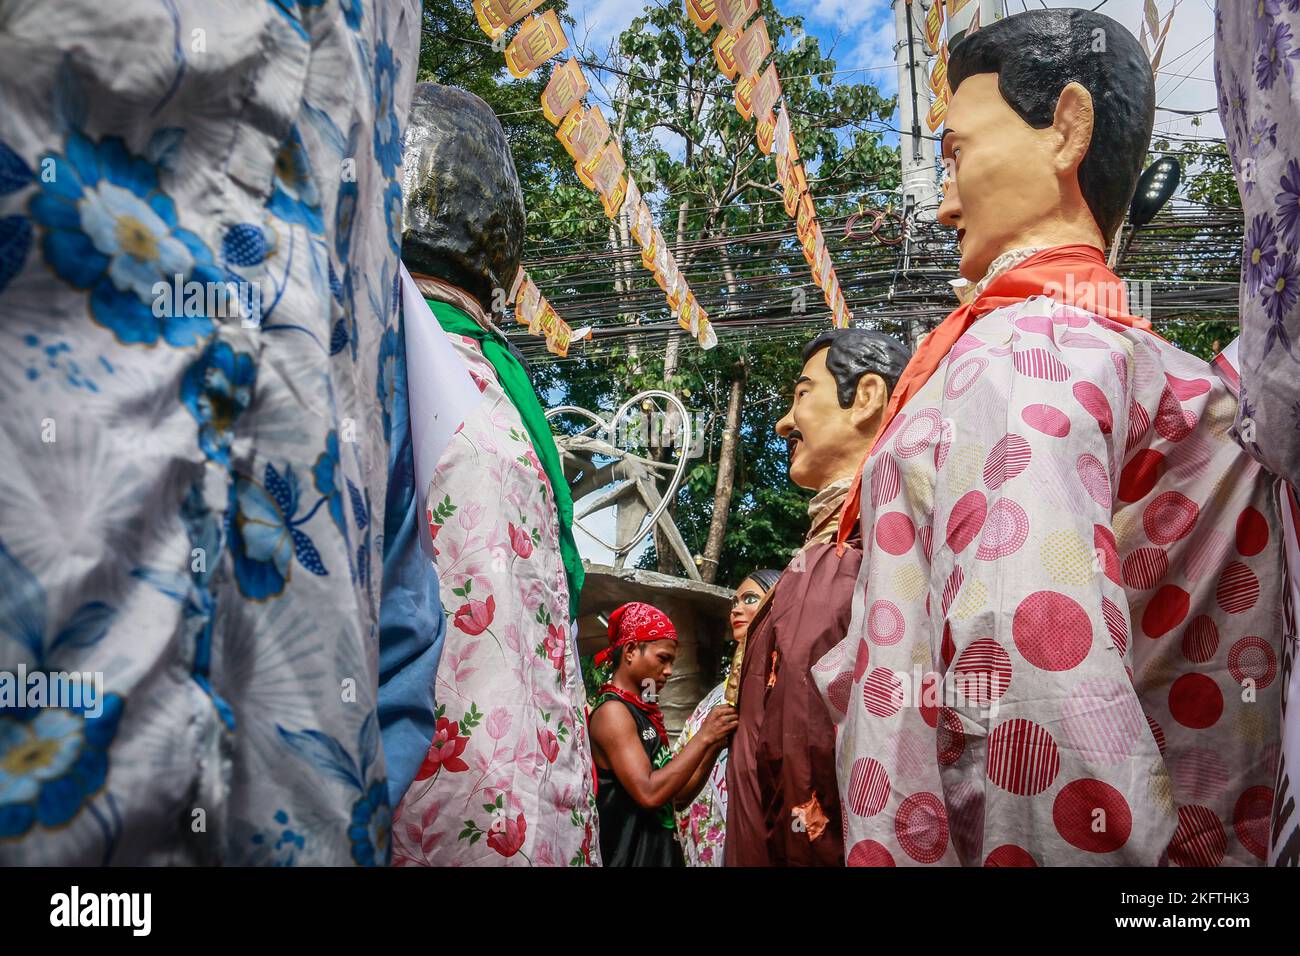
[[1262,862],[1283,566],[1236,406],[1041,297],[957,342],[867,462],[814,665],[850,866]]

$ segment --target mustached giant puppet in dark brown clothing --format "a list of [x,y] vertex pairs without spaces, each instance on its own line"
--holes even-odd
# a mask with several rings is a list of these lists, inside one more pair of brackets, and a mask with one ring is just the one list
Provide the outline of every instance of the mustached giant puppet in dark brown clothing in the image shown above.
[[906,360],[883,333],[823,332],[805,346],[790,411],[776,425],[790,480],[816,494],[805,545],[750,622],[728,682],[740,711],[727,765],[728,866],[844,862],[835,726],[809,669],[849,626],[862,550],[837,554],[833,537]]

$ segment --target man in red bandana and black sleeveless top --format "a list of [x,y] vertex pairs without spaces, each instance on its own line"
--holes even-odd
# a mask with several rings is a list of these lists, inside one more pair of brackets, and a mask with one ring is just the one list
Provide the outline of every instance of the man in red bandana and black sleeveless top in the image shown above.
[[736,728],[736,710],[727,704],[714,708],[671,757],[655,701],[672,676],[676,628],[658,607],[625,604],[610,615],[610,646],[595,662],[611,657],[614,675],[590,717],[601,857],[606,866],[684,866],[672,805],[692,800],[705,786]]

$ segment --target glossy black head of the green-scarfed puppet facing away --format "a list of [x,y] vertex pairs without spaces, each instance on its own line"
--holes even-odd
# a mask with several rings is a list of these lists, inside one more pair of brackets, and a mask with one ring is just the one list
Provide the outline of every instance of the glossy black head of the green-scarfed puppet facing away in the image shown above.
[[[417,83],[407,126],[402,261],[493,311],[524,251],[524,195],[491,107],[464,90]],[[500,303],[498,303],[498,308]]]

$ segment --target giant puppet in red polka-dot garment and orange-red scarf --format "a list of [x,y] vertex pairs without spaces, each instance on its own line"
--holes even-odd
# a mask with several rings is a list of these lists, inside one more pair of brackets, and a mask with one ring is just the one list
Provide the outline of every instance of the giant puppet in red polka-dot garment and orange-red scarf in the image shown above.
[[974,286],[850,493],[852,624],[812,671],[846,861],[1258,864],[1271,479],[1230,434],[1228,385],[1127,313],[1101,252],[1145,156],[1150,68],[1113,20],[1053,9],[968,36],[949,77],[940,220]]

